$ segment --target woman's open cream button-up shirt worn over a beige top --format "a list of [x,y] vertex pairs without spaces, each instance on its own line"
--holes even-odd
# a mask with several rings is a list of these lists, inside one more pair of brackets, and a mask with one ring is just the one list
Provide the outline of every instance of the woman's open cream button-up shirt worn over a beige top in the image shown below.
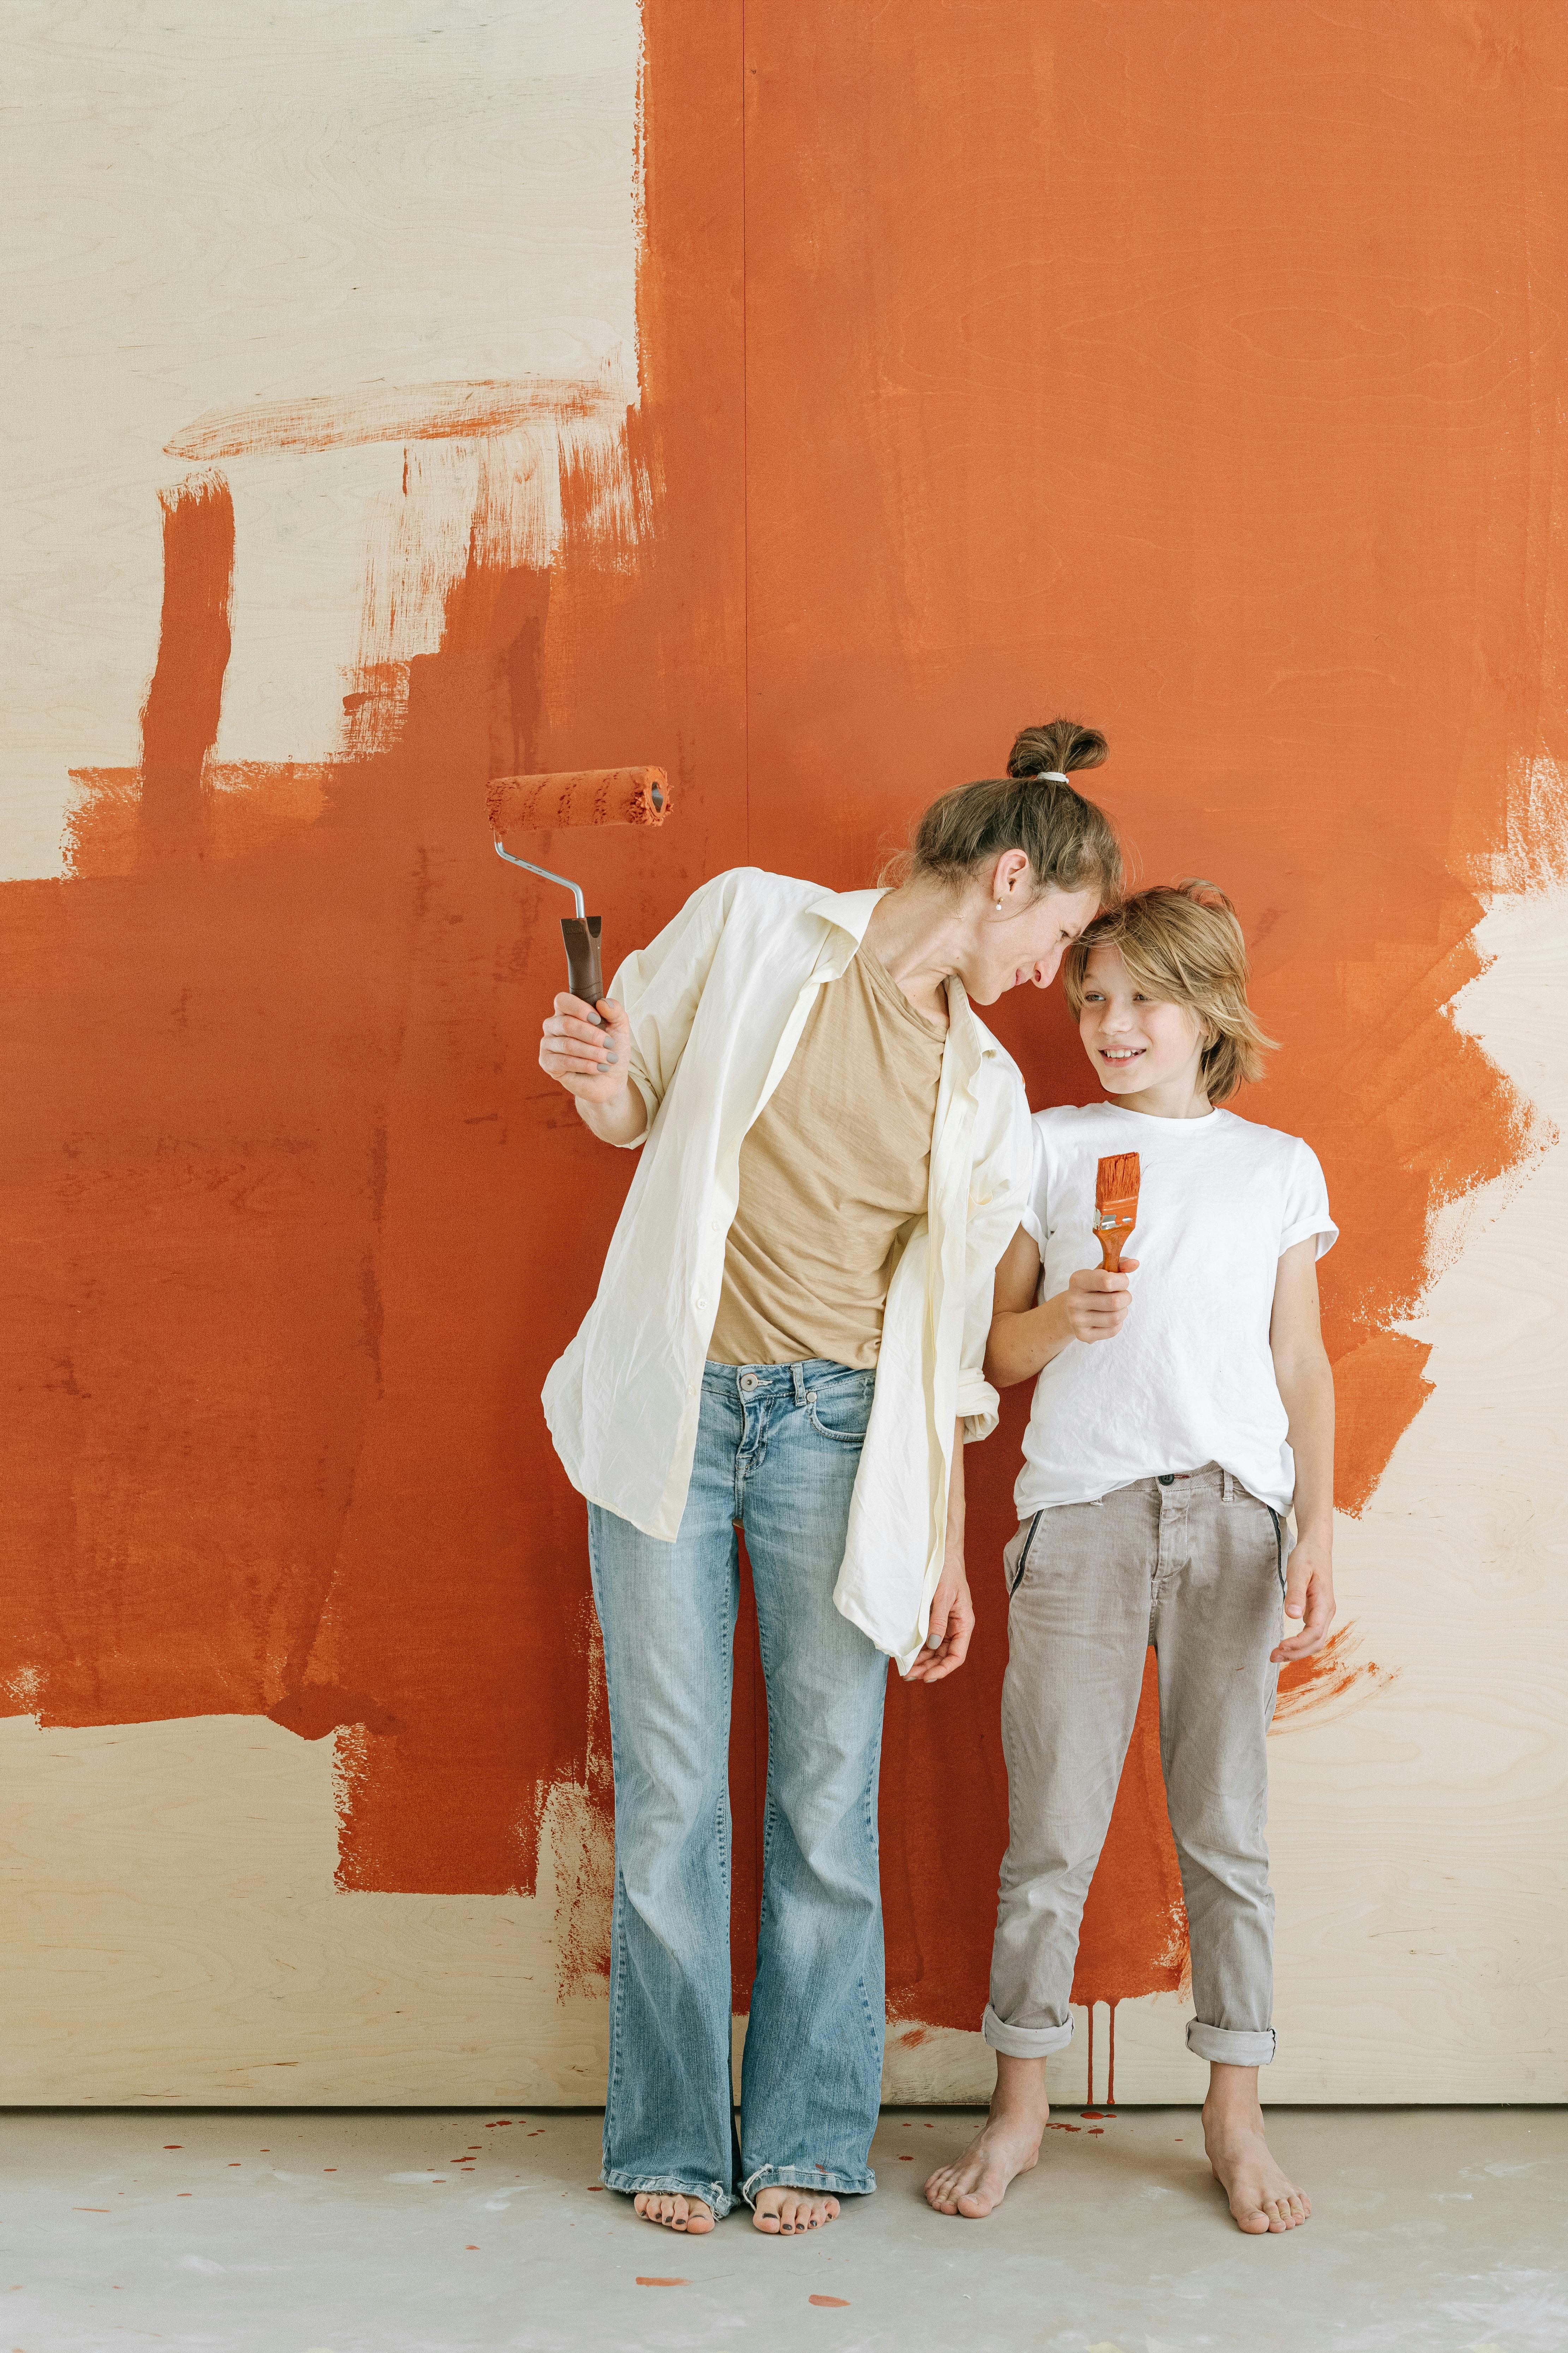
[[[741,866],[705,882],[611,981],[649,1125],[599,1294],[543,1395],[571,1485],[649,1537],[672,1541],[686,1506],[741,1144],[879,896]],[[966,1442],[997,1428],[983,1372],[992,1275],[1030,1174],[1018,1066],[959,981],[947,981],[947,1012],[926,1217],[889,1285],[835,1591],[903,1671],[926,1640],[943,1569],[954,1421]]]

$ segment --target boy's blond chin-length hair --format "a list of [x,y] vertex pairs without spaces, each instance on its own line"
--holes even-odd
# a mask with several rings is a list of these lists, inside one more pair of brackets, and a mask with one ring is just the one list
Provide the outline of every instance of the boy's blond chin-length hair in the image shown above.
[[1211,1104],[1262,1078],[1262,1056],[1274,1040],[1262,1035],[1246,1002],[1246,939],[1215,882],[1157,882],[1095,915],[1063,962],[1074,1021],[1084,1009],[1084,974],[1095,948],[1114,948],[1145,995],[1185,1005],[1199,1016],[1199,1085]]

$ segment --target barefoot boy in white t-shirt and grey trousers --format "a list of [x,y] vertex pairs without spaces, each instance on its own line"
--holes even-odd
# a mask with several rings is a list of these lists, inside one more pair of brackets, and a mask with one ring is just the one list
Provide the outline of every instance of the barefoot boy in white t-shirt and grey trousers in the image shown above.
[[[1110,1101],[1034,1115],[1030,1205],[997,1268],[987,1377],[1037,1374],[1004,1555],[1011,1842],[983,2021],[997,2094],[926,2184],[943,2214],[990,2214],[1039,2155],[1046,2054],[1072,2038],[1079,1920],[1147,1645],[1192,1934],[1187,2047],[1211,2061],[1208,2162],[1241,2231],[1312,2212],[1258,2106],[1274,2057],[1265,1734],[1281,1661],[1319,1649],[1333,1619],[1316,1259],[1338,1228],[1314,1153],[1218,1108],[1272,1042],[1246,979],[1241,927],[1208,882],[1138,892],[1065,962]],[[1110,1153],[1143,1165],[1138,1257],[1117,1275],[1091,1231]]]

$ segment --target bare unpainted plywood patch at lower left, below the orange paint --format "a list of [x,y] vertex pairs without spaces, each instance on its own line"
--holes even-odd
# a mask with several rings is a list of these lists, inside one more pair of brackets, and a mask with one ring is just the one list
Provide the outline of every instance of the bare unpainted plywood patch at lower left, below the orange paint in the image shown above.
[[536,1897],[346,1894],[331,1741],[242,1715],[12,1718],[0,1781],[0,2101],[602,2097],[602,1988],[559,1993],[548,1842]]

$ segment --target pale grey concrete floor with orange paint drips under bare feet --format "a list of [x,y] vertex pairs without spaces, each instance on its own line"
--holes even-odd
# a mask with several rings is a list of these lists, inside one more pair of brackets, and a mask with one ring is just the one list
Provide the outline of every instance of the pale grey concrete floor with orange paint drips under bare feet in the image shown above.
[[[597,2191],[597,2113],[7,2111],[0,2353],[1561,2353],[1568,2111],[1286,2108],[1314,2200],[1244,2240],[1182,2108],[1046,2137],[985,2224],[891,2111],[820,2238],[677,2240]],[[190,2212],[181,2212],[188,2207]]]

